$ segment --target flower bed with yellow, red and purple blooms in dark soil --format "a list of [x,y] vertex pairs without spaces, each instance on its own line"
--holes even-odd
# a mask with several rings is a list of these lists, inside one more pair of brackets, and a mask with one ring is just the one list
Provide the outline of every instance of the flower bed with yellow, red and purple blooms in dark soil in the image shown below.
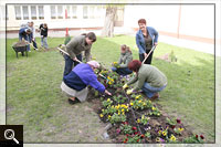
[[126,78],[116,73],[102,71],[98,81],[113,96],[97,95],[101,104],[97,114],[115,143],[203,143],[204,136],[187,130],[178,118],[168,118],[157,104],[137,93],[126,95],[123,85]]

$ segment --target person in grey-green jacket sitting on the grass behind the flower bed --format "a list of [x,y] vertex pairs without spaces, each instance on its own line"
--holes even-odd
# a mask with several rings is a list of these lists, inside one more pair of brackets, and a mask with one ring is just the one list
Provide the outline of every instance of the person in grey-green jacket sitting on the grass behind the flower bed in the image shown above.
[[126,76],[133,72],[128,69],[128,63],[133,61],[133,54],[129,46],[123,44],[120,46],[120,57],[117,66],[113,66],[112,71],[118,73],[119,75]]

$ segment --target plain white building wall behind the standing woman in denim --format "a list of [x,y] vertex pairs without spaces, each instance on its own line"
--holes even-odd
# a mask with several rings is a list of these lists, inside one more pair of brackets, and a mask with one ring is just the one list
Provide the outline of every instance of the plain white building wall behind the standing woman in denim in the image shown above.
[[210,41],[214,36],[212,4],[128,4],[125,7],[126,28],[138,28],[137,21],[140,18],[146,19],[147,25],[154,27],[165,35],[206,38]]

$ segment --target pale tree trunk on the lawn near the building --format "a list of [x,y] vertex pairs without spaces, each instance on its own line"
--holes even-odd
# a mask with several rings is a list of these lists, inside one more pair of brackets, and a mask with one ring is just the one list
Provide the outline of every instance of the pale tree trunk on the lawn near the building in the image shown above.
[[116,6],[107,6],[104,28],[102,30],[102,36],[110,36],[110,38],[114,36],[114,21],[116,11],[117,11]]

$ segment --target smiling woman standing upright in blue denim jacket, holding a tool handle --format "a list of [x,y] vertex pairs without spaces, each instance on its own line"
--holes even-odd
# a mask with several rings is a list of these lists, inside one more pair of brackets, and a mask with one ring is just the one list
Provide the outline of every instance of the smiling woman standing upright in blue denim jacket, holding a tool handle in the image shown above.
[[[150,52],[154,45],[158,44],[158,32],[151,28],[146,25],[146,20],[138,20],[139,30],[136,34],[136,44],[139,49],[139,61],[144,61],[147,54]],[[154,52],[149,54],[145,64],[151,64]]]

